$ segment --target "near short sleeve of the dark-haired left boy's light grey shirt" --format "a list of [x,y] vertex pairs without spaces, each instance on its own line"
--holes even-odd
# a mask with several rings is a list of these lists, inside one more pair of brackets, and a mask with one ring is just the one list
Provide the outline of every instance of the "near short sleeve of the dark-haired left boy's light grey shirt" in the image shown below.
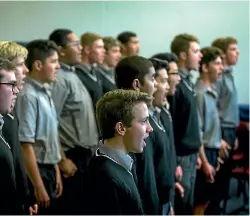
[[35,143],[37,122],[37,100],[28,94],[18,95],[16,113],[19,119],[20,142]]

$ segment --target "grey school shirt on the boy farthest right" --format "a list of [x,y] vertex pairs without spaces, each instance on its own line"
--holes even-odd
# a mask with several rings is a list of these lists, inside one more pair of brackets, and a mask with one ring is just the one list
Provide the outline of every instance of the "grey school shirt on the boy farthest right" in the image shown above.
[[224,69],[221,79],[216,83],[218,109],[221,127],[235,128],[239,125],[239,106],[237,89],[232,68]]

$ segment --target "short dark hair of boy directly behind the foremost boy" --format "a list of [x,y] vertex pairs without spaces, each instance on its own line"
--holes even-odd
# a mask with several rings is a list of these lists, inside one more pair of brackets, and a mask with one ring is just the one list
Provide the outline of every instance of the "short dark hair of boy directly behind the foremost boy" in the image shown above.
[[131,89],[134,79],[144,84],[144,77],[153,64],[142,56],[128,56],[122,59],[115,67],[116,86],[121,89]]

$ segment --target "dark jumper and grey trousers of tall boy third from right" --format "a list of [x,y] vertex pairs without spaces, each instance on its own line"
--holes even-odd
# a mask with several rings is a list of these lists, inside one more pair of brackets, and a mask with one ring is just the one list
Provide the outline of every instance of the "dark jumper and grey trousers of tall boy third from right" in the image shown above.
[[197,116],[195,92],[187,71],[180,71],[181,81],[174,96],[168,96],[170,113],[173,119],[177,165],[183,170],[180,181],[184,187],[184,197],[175,196],[175,213],[192,214],[196,161],[201,140]]

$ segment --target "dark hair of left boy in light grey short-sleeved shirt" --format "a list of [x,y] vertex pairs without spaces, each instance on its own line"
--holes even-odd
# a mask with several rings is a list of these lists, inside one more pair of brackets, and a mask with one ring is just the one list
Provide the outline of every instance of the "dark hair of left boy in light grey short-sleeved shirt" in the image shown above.
[[29,71],[32,71],[33,63],[40,60],[42,63],[52,56],[54,52],[58,53],[58,47],[54,41],[51,40],[33,40],[27,45],[28,56],[25,61]]

